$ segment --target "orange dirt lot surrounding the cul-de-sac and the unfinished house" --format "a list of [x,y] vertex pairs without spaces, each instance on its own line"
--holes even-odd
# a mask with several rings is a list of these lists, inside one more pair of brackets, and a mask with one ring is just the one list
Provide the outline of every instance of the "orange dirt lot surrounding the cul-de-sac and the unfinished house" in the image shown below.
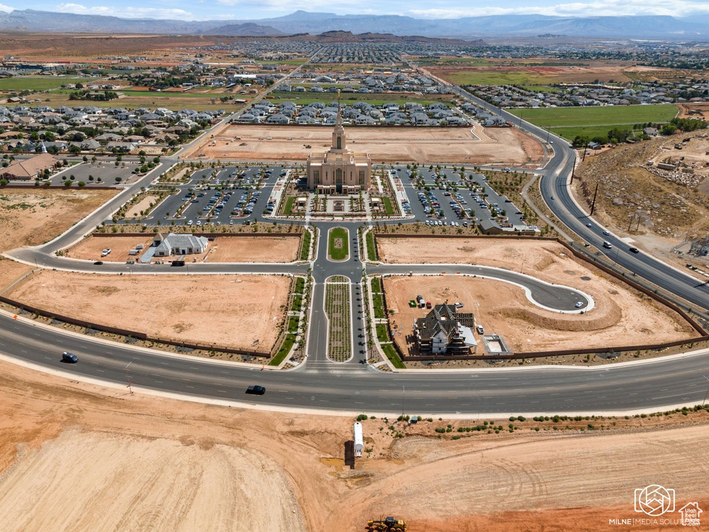
[[[467,262],[506,267],[547,282],[564,284],[590,294],[596,307],[584,315],[558,314],[540,309],[511,284],[473,277],[388,277],[384,279],[387,303],[403,324],[396,341],[411,350],[411,323],[425,310],[411,309],[408,301],[423,294],[432,303],[463,303],[486,333],[502,336],[508,348],[532,352],[584,345],[635,345],[661,343],[696,336],[673,311],[666,309],[601,272],[566,254],[553,242],[481,239],[380,238],[380,256],[388,262]],[[418,260],[416,260],[418,257]],[[479,345],[478,352],[484,352]]]

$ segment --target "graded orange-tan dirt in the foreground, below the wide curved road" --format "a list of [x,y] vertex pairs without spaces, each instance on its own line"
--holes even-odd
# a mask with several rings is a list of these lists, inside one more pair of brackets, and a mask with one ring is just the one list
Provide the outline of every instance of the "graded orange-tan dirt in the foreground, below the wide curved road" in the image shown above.
[[[515,433],[457,441],[435,438],[447,421],[370,419],[372,452],[350,470],[342,445],[352,419],[128,395],[5,365],[0,511],[9,532],[48,523],[77,532],[96,523],[136,532],[360,532],[386,515],[406,519],[411,532],[679,531],[611,528],[608,519],[639,517],[634,490],[654,483],[676,490],[677,509],[709,506],[707,417],[675,414],[665,423],[690,424],[671,430],[588,433],[534,432],[530,420]],[[406,437],[379,431],[388,423]]]

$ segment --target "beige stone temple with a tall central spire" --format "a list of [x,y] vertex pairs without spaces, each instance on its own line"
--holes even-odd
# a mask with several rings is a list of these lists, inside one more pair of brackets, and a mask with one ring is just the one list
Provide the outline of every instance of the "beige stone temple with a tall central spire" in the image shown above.
[[320,194],[352,194],[368,190],[371,182],[372,159],[368,153],[352,153],[347,149],[342,113],[338,109],[330,150],[308,157],[308,189]]

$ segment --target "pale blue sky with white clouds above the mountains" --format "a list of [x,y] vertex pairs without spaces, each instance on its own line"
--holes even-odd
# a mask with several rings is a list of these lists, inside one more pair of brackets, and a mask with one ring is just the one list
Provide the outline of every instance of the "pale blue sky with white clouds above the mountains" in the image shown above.
[[35,9],[121,18],[254,20],[298,9],[345,14],[396,14],[414,18],[459,18],[540,13],[551,16],[709,16],[709,0],[77,0],[80,3],[0,0],[0,11]]

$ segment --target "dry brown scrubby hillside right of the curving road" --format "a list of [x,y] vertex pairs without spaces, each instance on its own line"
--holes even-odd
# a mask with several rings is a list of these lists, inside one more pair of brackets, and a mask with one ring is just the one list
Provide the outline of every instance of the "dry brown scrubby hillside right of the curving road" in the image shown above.
[[[709,234],[708,153],[706,131],[619,145],[587,155],[572,188],[590,211],[598,184],[594,218],[649,250],[669,253],[685,240]],[[671,162],[676,170],[658,169],[658,162]]]

